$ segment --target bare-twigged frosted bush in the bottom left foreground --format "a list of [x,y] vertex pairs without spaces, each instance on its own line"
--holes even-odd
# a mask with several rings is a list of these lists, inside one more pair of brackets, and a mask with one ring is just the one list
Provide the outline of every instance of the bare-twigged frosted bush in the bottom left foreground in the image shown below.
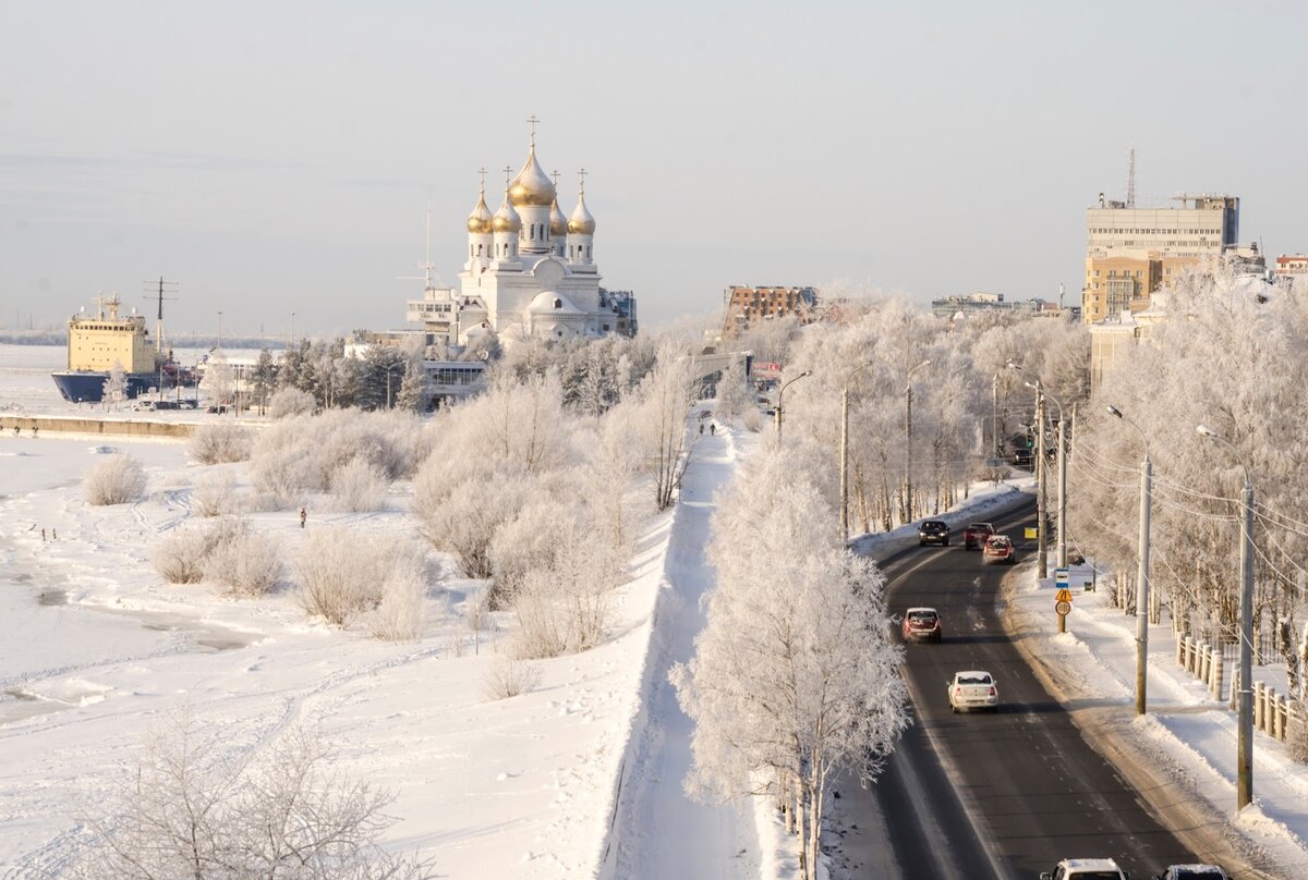
[[387,877],[426,880],[432,866],[387,854],[392,795],[334,770],[335,754],[293,728],[254,761],[188,711],[150,732],[114,791],[93,795],[89,843],[71,876]]

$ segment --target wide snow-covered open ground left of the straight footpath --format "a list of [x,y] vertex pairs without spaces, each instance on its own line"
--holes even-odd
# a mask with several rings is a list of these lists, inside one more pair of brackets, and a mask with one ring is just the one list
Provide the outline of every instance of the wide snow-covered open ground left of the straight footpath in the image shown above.
[[[48,365],[0,347],[0,399],[25,412],[67,407]],[[5,369],[8,366],[8,369]],[[306,616],[292,591],[233,599],[166,584],[150,565],[190,515],[205,472],[179,443],[110,441],[140,458],[148,497],[89,507],[80,492],[103,438],[0,437],[0,876],[65,867],[90,807],[129,777],[146,732],[187,706],[238,760],[303,723],[336,751],[335,769],[395,795],[382,839],[441,876],[591,876],[602,858],[613,781],[640,709],[671,516],[647,520],[630,583],[613,603],[613,638],[536,663],[530,693],[487,700],[511,621],[475,637],[473,587],[443,566],[411,643]],[[723,439],[715,441],[725,443]],[[415,531],[412,486],[373,514],[251,514],[285,556],[314,530]],[[42,535],[44,530],[44,539]]]

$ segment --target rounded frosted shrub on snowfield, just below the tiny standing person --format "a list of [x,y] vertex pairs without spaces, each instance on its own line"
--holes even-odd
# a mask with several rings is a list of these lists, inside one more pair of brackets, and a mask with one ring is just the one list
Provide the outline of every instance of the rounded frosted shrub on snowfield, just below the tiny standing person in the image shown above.
[[425,557],[412,541],[392,535],[364,535],[340,528],[311,531],[296,560],[300,600],[310,615],[348,626],[392,599],[378,624],[378,634],[421,632],[421,608],[415,611],[419,586],[425,595],[430,579]]

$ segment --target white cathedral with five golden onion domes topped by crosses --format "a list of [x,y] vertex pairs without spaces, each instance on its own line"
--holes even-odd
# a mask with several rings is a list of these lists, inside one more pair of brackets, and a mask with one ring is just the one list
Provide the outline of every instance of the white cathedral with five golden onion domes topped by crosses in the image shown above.
[[[577,207],[559,209],[556,182],[536,161],[535,120],[527,161],[509,179],[504,204],[487,207],[485,171],[477,205],[468,216],[468,251],[459,286],[428,282],[422,299],[408,302],[408,319],[451,345],[496,333],[522,339],[599,339],[636,332],[636,298],[599,286],[594,259],[595,218],[586,209],[586,173],[578,173]],[[429,268],[429,267],[428,267]]]

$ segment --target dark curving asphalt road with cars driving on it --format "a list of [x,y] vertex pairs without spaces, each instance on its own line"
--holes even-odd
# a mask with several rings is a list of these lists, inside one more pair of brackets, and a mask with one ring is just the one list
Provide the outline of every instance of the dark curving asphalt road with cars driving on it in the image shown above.
[[[1019,561],[1035,554],[1035,541],[1020,537],[1035,524],[1033,505],[995,524],[1015,539]],[[876,864],[866,849],[872,841],[859,851],[857,839],[876,837],[867,829],[878,826],[904,877],[1031,879],[1061,858],[1112,856],[1141,880],[1196,862],[1087,744],[1005,634],[995,596],[1011,569],[982,565],[980,552],[961,544],[959,530],[948,548],[914,547],[883,562],[889,609],[938,609],[944,639],[906,646],[914,723],[870,794],[842,790],[849,876],[888,876],[889,859]],[[946,681],[959,669],[995,676],[998,711],[951,713]]]

